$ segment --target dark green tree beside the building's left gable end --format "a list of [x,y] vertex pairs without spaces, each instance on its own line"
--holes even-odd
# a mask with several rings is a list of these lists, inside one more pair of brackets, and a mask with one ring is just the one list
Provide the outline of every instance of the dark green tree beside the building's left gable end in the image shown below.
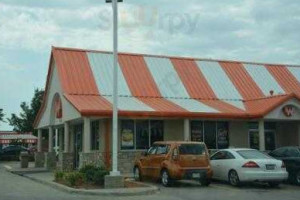
[[35,89],[34,96],[30,105],[26,102],[22,102],[20,107],[21,113],[18,115],[11,114],[11,118],[8,118],[9,125],[13,126],[14,131],[18,132],[33,132],[33,123],[42,105],[44,90]]

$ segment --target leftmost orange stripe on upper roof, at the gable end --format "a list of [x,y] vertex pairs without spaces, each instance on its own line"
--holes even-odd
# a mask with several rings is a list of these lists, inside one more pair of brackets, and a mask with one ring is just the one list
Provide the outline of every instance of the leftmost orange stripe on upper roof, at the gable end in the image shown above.
[[53,56],[65,93],[99,95],[85,52],[53,49]]

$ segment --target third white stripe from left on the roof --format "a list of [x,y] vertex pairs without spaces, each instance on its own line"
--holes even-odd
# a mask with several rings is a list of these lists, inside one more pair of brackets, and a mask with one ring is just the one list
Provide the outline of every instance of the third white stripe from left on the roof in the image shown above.
[[219,99],[228,99],[227,103],[245,110],[243,102],[240,101],[242,96],[218,62],[197,61],[196,63]]

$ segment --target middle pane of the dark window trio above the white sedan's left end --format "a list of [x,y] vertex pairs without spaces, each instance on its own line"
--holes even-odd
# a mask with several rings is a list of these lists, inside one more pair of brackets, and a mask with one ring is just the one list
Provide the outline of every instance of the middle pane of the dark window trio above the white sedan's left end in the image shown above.
[[216,149],[216,122],[204,122],[204,140],[207,148]]

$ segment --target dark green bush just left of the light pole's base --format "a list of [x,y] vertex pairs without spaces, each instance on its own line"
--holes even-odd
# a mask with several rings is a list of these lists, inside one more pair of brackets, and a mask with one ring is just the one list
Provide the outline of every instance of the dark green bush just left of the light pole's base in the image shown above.
[[80,169],[80,173],[85,175],[85,181],[88,183],[103,185],[104,176],[108,174],[108,171],[104,167],[86,165]]

